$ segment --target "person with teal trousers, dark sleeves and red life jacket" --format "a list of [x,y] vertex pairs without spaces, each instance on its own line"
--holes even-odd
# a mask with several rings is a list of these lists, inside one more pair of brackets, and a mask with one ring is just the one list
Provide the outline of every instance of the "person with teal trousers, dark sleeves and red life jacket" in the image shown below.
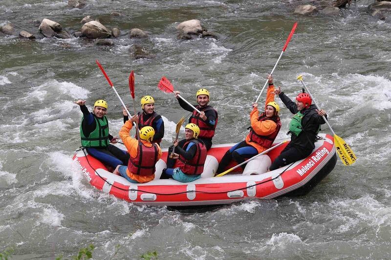
[[[181,147],[176,142],[173,159],[177,159],[177,168],[167,168],[162,172],[160,179],[173,178],[180,182],[190,182],[201,178],[206,160],[205,144],[198,140],[199,127],[194,123],[185,126],[185,142]],[[171,152],[169,151],[168,158]]]

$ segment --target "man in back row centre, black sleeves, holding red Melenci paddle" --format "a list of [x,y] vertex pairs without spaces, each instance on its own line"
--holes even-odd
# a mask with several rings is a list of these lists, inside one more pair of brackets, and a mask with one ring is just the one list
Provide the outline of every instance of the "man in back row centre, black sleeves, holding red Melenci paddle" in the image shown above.
[[185,101],[178,98],[179,91],[174,91],[176,99],[179,102],[179,105],[187,110],[192,112],[192,116],[189,119],[189,123],[194,123],[199,127],[200,133],[198,140],[202,140],[206,146],[206,149],[209,150],[212,147],[212,138],[215,136],[215,130],[218,121],[217,111],[209,103],[209,91],[201,88],[197,91],[197,108],[201,113],[197,113],[190,105]]

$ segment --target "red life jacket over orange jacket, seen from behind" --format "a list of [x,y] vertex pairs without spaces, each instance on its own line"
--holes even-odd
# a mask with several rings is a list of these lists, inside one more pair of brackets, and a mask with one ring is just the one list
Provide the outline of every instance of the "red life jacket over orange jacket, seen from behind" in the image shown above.
[[151,147],[145,146],[144,143],[138,143],[137,156],[129,159],[128,170],[135,175],[149,176],[155,173],[155,164],[158,156],[156,143]]

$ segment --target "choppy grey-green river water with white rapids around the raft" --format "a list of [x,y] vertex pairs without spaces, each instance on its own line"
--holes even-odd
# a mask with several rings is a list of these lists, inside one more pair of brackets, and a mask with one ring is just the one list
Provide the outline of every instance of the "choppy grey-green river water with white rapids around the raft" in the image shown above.
[[[93,259],[390,259],[390,21],[366,14],[359,1],[342,17],[293,14],[295,3],[247,0],[1,0],[0,25],[37,34],[32,20],[55,20],[69,31],[91,15],[122,36],[113,47],[87,40],[20,40],[0,33],[0,251],[12,259],[70,258],[93,244]],[[110,16],[117,11],[123,16]],[[219,39],[176,40],[178,22],[199,19]],[[164,75],[184,98],[212,93],[219,112],[214,143],[243,140],[251,103],[279,57],[294,21],[298,27],[274,77],[291,98],[304,81],[334,131],[358,160],[337,162],[304,197],[245,200],[214,210],[179,212],[136,206],[89,185],[71,157],[80,145],[81,112],[72,102],[109,102],[110,132],[122,126],[121,106],[95,64],[101,61],[130,105],[152,95],[163,115],[162,147],[176,121],[189,114],[157,89]],[[131,40],[131,28],[149,33]],[[134,60],[140,44],[155,59]],[[264,95],[261,102],[264,101]],[[291,114],[282,106],[282,130]],[[137,101],[138,103],[138,101]],[[323,127],[323,131],[330,133]]]

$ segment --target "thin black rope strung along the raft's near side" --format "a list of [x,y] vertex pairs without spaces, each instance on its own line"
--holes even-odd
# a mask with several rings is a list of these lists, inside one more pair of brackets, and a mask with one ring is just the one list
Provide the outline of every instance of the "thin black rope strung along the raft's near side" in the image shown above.
[[263,184],[263,183],[266,183],[266,182],[269,182],[269,181],[273,181],[273,180],[276,180],[278,179],[287,169],[290,168],[290,166],[293,165],[293,163],[295,163],[296,161],[292,162],[285,170],[283,170],[277,177],[274,177],[270,180],[264,180],[264,181],[261,181],[260,183],[256,183],[256,184],[253,184],[253,185],[250,185],[250,186],[246,186],[246,187],[243,187],[243,188],[239,188],[239,189],[235,189],[235,190],[227,190],[227,191],[218,191],[218,192],[212,192],[212,191],[199,191],[199,190],[190,190],[190,191],[182,191],[182,192],[175,192],[175,193],[156,193],[156,192],[150,192],[150,191],[144,191],[144,190],[140,190],[140,189],[124,189],[124,188],[121,188],[121,187],[118,187],[118,186],[115,186],[114,184],[110,183],[109,181],[107,181],[105,178],[103,178],[102,176],[99,175],[99,173],[96,171],[96,169],[94,167],[92,167],[92,165],[89,163],[89,160],[88,160],[88,157],[87,157],[87,154],[85,152],[85,147],[81,147],[80,149],[78,149],[77,151],[80,151],[80,150],[83,150],[83,153],[84,155],[86,156],[86,159],[87,159],[87,162],[88,162],[88,165],[95,171],[95,173],[102,179],[104,180],[107,184],[109,184],[110,186],[113,186],[119,190],[123,190],[123,191],[139,191],[139,192],[143,192],[143,193],[152,193],[152,194],[155,194],[155,195],[180,195],[180,194],[186,194],[186,193],[191,193],[191,192],[195,192],[195,193],[204,193],[204,194],[221,194],[221,193],[228,193],[228,192],[233,192],[233,191],[239,191],[239,190],[244,190],[244,189],[247,189],[247,188],[251,188],[251,187],[255,187],[255,186],[258,186],[260,184]]

